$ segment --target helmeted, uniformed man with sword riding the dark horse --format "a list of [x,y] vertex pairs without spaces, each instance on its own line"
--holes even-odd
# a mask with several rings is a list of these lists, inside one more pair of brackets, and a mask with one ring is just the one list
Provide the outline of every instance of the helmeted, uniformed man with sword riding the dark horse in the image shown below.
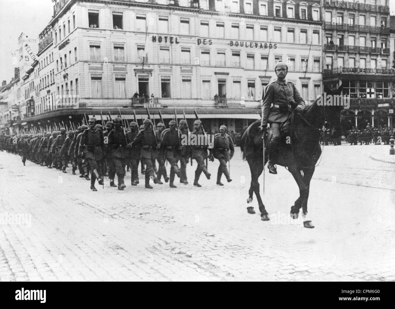
[[[285,79],[288,66],[284,62],[278,62],[275,72],[277,80],[267,87],[262,99],[262,122],[259,127],[264,132],[267,130],[267,123],[270,123],[272,136],[269,143],[267,168],[272,174],[277,173],[273,160],[275,159],[274,151],[280,141],[280,125],[288,119],[292,109],[300,113],[306,105],[295,85]],[[273,104],[272,107],[271,104]]]

